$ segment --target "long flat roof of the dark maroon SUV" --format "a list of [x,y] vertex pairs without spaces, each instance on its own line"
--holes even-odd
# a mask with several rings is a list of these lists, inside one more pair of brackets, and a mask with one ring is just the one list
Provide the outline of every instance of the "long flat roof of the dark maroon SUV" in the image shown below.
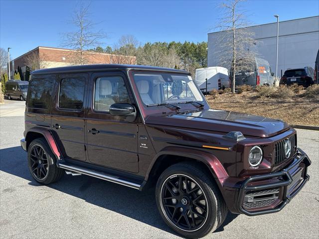
[[46,69],[32,71],[31,74],[40,75],[40,74],[53,74],[53,73],[73,73],[73,72],[103,71],[103,70],[110,70],[110,69],[147,70],[147,71],[161,71],[161,72],[165,71],[165,72],[171,72],[171,73],[189,74],[187,71],[176,70],[171,68],[141,66],[141,65],[120,65],[120,64],[95,64],[95,65],[46,68]]

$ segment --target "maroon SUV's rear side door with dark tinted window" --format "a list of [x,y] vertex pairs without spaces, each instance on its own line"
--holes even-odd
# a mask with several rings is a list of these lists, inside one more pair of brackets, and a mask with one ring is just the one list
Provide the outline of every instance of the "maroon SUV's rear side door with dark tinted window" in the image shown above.
[[86,161],[85,104],[88,74],[60,74],[52,107],[51,127],[67,158]]

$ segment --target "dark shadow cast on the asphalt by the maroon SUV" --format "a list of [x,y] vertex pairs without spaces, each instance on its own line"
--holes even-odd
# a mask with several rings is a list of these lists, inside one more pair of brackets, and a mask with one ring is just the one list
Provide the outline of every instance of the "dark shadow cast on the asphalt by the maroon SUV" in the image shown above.
[[[30,181],[30,186],[43,186],[31,177],[26,152],[19,146],[0,149],[0,170]],[[47,187],[177,235],[162,221],[158,213],[155,188],[140,192],[86,175],[64,175],[61,180]],[[216,232],[224,231],[223,227],[236,217],[237,215],[229,213]]]

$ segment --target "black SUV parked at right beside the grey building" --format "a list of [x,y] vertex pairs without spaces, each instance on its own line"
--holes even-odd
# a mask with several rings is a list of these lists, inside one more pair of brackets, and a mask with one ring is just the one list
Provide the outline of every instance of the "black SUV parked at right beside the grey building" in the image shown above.
[[288,69],[282,77],[282,83],[288,86],[293,84],[305,87],[311,86],[316,84],[315,70],[310,66],[298,69]]

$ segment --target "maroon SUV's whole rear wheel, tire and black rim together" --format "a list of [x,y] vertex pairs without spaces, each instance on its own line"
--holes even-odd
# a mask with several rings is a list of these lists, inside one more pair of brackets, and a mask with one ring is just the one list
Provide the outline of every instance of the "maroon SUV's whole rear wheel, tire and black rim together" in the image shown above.
[[30,143],[28,168],[35,181],[44,185],[58,181],[64,174],[64,169],[56,166],[56,158],[44,138]]

